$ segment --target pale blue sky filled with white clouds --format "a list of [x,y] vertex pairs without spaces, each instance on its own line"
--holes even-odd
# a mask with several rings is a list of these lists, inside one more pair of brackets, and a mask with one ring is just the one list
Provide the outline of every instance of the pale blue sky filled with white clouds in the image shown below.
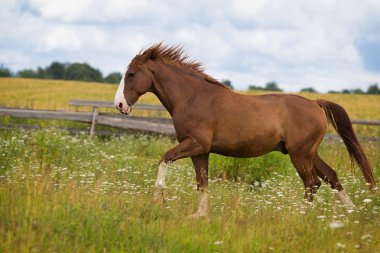
[[380,83],[379,0],[0,0],[0,65],[124,72],[142,48],[182,45],[235,89],[366,90]]

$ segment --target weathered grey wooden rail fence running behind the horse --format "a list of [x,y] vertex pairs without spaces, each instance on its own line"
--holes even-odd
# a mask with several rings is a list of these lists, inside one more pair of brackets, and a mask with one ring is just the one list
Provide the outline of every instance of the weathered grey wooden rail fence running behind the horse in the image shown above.
[[[69,104],[74,106],[92,107],[92,112],[31,110],[0,107],[0,116],[87,122],[91,123],[91,136],[95,134],[96,124],[124,129],[141,130],[166,135],[175,135],[175,130],[170,119],[98,113],[99,107],[113,108],[114,105],[112,102],[93,100],[70,100]],[[141,110],[165,110],[163,106],[150,104],[135,104],[133,107],[134,109]],[[380,126],[380,121],[352,120],[352,124]]]

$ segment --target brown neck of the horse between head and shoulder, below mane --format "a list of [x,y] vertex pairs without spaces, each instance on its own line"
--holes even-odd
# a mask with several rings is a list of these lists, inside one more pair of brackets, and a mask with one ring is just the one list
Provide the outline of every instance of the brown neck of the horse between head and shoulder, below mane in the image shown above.
[[154,78],[153,93],[171,115],[176,107],[188,102],[199,91],[198,86],[202,85],[201,81],[196,79],[193,82],[188,82],[183,74],[174,70],[166,69],[159,73]]

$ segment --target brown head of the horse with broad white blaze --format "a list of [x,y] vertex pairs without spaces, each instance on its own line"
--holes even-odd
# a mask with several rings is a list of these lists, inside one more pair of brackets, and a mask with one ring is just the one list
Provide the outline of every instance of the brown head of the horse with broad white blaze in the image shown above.
[[145,63],[146,59],[137,55],[121,78],[115,94],[114,105],[123,114],[129,114],[132,105],[137,102],[139,97],[152,88],[152,72],[149,71]]

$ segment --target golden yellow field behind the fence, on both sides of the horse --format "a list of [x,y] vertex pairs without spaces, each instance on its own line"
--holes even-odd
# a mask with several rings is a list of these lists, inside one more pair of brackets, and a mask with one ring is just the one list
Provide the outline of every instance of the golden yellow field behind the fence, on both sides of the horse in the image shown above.
[[[113,101],[117,85],[62,80],[39,80],[22,78],[0,78],[0,106],[68,110],[70,99],[94,99]],[[263,94],[263,92],[241,92]],[[310,99],[326,99],[342,105],[352,119],[380,119],[380,96],[352,94],[298,95]],[[159,100],[147,93],[140,103],[159,104]],[[88,108],[89,110],[90,108]]]

